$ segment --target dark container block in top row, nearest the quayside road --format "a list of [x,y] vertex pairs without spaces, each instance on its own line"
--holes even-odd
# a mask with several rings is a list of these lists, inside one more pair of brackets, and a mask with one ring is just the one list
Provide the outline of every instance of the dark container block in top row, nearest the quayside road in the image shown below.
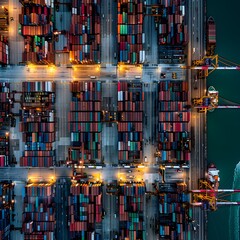
[[185,1],[158,1],[162,14],[154,18],[158,34],[159,60],[161,63],[178,64],[185,61],[188,43]]

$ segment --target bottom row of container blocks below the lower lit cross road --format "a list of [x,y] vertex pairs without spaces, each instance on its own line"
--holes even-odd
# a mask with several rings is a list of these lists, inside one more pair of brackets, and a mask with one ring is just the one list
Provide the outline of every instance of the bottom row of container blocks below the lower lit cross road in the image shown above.
[[[159,192],[160,237],[191,239],[192,209],[189,196],[182,187],[176,191]],[[160,187],[159,187],[160,189]],[[102,184],[72,182],[67,201],[69,239],[101,239],[97,229],[102,223]],[[119,234],[121,239],[147,239],[144,222],[145,184],[119,183]],[[24,239],[55,239],[56,204],[55,182],[27,183],[22,191],[22,231]],[[10,215],[14,204],[14,184],[0,184],[0,236],[9,239]],[[145,216],[146,217],[146,216]],[[98,231],[98,230],[97,230]],[[97,236],[96,236],[97,235]],[[183,236],[188,236],[184,238]]]

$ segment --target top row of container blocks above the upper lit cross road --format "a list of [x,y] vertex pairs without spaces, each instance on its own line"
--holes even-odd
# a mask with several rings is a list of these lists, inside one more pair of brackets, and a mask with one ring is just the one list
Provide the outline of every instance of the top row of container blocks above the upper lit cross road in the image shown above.
[[[21,34],[25,41],[23,61],[54,63],[54,39],[52,10],[48,5],[33,2],[23,3],[19,15]],[[171,4],[159,1],[162,16],[155,18],[160,45],[182,45],[187,42],[187,27],[184,25],[185,6],[182,1]],[[145,35],[143,32],[144,1],[118,0],[117,40],[118,61],[130,64],[144,63]],[[72,4],[71,24],[67,46],[72,63],[100,63],[101,21],[100,1],[77,1]],[[36,40],[40,38],[41,40]],[[8,61],[8,59],[7,59]]]

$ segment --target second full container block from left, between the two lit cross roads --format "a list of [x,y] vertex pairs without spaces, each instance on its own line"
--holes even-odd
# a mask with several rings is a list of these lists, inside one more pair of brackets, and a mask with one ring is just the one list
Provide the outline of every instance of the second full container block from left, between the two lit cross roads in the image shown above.
[[82,158],[74,147],[84,146],[86,163],[101,160],[101,82],[72,82],[70,90],[72,101],[69,113],[71,132],[71,158],[78,161]]

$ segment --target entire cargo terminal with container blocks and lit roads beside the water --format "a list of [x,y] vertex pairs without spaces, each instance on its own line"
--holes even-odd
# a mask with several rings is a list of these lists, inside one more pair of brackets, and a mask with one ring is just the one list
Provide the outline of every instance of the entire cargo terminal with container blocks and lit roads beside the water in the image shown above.
[[205,1],[1,4],[0,238],[207,239]]

